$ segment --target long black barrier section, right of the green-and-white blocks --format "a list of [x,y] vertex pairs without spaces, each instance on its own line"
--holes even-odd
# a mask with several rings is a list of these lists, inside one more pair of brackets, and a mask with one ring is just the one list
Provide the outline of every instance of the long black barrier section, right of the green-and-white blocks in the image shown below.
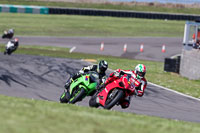
[[148,13],[135,11],[83,9],[83,8],[49,8],[49,14],[71,14],[71,15],[90,15],[90,16],[112,16],[112,17],[132,17],[147,19],[168,19],[168,20],[195,20],[199,15],[186,14],[166,14]]

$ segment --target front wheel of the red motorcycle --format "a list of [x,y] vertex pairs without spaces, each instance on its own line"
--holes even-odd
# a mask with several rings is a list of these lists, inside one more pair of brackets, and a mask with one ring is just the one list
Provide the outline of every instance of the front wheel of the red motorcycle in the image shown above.
[[108,94],[108,97],[105,102],[105,109],[111,109],[115,106],[121,98],[123,98],[124,92],[120,89],[114,89],[111,93]]

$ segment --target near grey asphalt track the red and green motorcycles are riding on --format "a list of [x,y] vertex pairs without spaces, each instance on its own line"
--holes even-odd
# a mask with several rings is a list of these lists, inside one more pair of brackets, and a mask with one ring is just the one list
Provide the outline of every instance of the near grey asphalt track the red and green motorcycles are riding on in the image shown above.
[[[59,102],[70,74],[88,63],[81,60],[0,53],[0,94]],[[88,106],[89,97],[78,104]],[[200,101],[148,85],[145,95],[133,97],[131,106],[114,110],[200,122]]]

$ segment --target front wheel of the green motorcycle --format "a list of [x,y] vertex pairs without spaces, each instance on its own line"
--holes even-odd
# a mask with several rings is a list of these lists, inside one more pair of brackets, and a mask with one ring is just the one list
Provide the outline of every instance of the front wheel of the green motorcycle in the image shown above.
[[85,97],[86,91],[84,88],[77,88],[74,90],[74,92],[72,92],[72,96],[71,99],[69,101],[69,103],[74,104],[78,101],[81,101],[83,97]]

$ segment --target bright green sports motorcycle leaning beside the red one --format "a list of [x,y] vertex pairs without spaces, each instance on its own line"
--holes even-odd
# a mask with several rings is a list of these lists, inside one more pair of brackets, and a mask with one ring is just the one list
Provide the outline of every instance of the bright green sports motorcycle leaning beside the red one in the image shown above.
[[67,90],[60,97],[61,103],[74,104],[81,101],[86,96],[92,96],[96,92],[99,84],[99,74],[97,72],[87,72],[75,79]]

